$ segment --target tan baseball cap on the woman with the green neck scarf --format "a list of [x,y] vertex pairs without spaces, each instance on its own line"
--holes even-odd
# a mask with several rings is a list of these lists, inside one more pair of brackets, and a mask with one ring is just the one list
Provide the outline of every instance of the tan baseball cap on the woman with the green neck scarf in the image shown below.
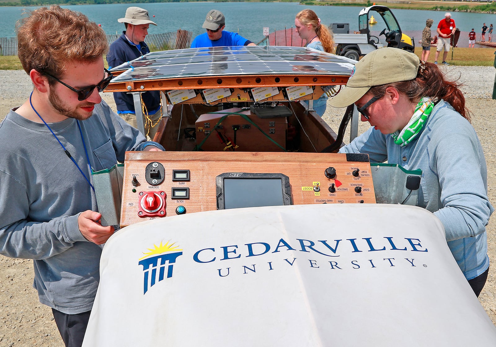
[[346,87],[329,99],[332,107],[347,107],[357,102],[372,86],[408,81],[417,77],[420,59],[399,48],[379,48],[353,67]]

